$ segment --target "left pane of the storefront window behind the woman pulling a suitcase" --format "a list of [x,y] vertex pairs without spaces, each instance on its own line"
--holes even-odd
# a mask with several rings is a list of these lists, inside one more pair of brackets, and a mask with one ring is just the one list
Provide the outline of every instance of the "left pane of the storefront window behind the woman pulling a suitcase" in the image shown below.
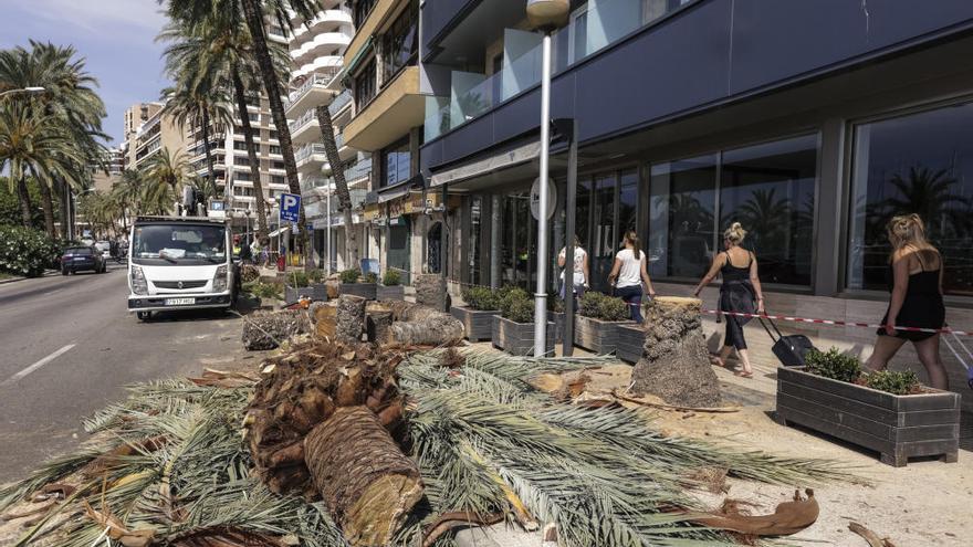
[[649,182],[649,274],[699,277],[715,243],[716,155],[656,164]]

